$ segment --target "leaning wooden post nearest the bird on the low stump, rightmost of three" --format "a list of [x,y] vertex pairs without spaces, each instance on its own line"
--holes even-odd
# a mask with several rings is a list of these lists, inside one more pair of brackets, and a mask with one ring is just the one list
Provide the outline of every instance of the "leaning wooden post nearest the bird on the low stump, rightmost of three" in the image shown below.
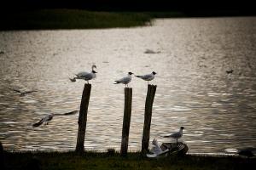
[[142,141],[142,152],[148,151],[149,135],[150,135],[150,125],[152,116],[152,107],[154,102],[154,94],[156,91],[156,85],[148,84],[148,93],[145,104],[144,113],[144,127],[143,127],[143,141]]

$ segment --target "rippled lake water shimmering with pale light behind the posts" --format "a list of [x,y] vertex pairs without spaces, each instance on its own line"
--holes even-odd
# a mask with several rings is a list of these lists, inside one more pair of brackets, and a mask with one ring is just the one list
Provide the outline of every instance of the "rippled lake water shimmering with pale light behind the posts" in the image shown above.
[[[229,152],[256,141],[256,18],[156,20],[130,29],[0,32],[0,140],[8,150],[74,150],[79,109],[78,71],[97,65],[85,148],[119,150],[128,71],[156,71],[150,140],[185,127],[190,153]],[[147,49],[158,53],[144,53]],[[234,70],[232,74],[226,71]],[[140,150],[147,82],[134,79],[130,150]],[[38,90],[24,97],[10,88]]]

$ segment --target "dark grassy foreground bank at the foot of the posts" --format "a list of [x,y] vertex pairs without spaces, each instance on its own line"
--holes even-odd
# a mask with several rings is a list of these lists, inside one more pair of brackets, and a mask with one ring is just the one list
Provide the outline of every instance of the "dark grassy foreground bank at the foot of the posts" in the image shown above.
[[140,153],[129,153],[127,157],[119,154],[74,152],[7,152],[4,156],[6,169],[253,169],[256,159],[234,156],[183,156],[147,158]]

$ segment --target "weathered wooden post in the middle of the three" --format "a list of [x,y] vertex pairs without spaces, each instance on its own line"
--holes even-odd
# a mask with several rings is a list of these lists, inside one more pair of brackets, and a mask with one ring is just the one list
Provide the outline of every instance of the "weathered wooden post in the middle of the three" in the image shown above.
[[123,119],[122,143],[121,143],[121,156],[127,156],[129,131],[131,122],[131,99],[132,88],[125,88],[125,109]]

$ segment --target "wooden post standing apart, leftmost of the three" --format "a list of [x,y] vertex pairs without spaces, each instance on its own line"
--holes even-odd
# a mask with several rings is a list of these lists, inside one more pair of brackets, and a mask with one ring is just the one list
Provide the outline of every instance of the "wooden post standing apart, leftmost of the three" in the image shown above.
[[76,152],[79,152],[79,153],[84,152],[84,137],[85,137],[86,122],[87,122],[87,111],[88,111],[88,105],[90,100],[90,89],[91,89],[91,84],[85,83],[81,104],[80,104],[80,111],[79,111],[79,131],[78,131],[78,139],[77,139],[77,146],[76,146]]

